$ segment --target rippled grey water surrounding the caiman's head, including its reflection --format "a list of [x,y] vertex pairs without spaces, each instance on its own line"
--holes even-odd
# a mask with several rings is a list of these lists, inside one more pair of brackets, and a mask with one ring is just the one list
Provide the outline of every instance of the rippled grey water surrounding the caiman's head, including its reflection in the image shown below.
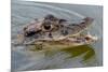
[[12,0],[12,42],[25,24],[48,14],[56,17],[78,20],[86,16],[95,20],[89,31],[98,37],[91,45],[48,51],[30,52],[24,46],[12,46],[12,70],[43,70],[59,68],[94,67],[103,64],[103,8],[98,5],[40,3]]

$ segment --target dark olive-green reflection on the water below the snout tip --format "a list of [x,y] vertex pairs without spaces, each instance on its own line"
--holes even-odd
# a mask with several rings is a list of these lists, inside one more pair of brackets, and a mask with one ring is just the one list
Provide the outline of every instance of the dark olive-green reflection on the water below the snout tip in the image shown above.
[[80,56],[82,54],[85,54],[83,56],[83,61],[90,59],[91,57],[95,56],[95,52],[92,46],[90,45],[81,45],[81,46],[76,46],[76,47],[68,47],[65,49],[62,49],[64,52],[67,52],[71,56],[69,58],[73,58],[76,56]]

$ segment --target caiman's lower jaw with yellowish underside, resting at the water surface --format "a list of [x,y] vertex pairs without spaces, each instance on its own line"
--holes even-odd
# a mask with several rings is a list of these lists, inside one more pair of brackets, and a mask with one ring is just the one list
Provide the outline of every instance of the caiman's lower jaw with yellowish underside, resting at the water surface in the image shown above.
[[37,46],[42,45],[41,49],[49,49],[50,51],[50,49],[67,48],[69,46],[79,46],[79,45],[91,44],[92,42],[95,42],[95,41],[97,41],[96,37],[85,34],[85,35],[63,38],[63,39],[55,40],[55,41],[53,41],[53,40],[39,40],[38,42],[35,42],[35,45],[37,45]]

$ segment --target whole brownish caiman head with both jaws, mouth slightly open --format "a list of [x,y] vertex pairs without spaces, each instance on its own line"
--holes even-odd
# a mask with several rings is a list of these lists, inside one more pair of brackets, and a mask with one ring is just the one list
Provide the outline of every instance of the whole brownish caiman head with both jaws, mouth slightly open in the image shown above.
[[44,18],[35,19],[24,27],[22,44],[41,45],[39,49],[90,44],[97,38],[91,34],[81,35],[81,32],[92,23],[93,18],[91,17],[75,24],[53,15],[46,15]]

